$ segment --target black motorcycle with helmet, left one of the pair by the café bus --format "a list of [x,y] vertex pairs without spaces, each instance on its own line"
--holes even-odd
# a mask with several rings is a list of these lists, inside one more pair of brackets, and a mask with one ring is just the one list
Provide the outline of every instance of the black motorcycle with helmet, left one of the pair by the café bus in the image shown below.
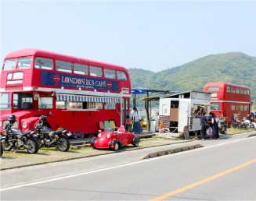
[[2,150],[27,149],[28,153],[38,153],[38,141],[34,139],[34,130],[21,132],[20,129],[12,128],[13,123],[9,122],[3,128],[5,136],[1,136]]

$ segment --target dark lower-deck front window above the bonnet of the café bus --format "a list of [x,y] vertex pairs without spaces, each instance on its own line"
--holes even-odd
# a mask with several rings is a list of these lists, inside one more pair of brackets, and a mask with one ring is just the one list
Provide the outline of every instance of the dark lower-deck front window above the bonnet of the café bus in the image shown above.
[[32,93],[13,93],[14,109],[32,109],[33,96]]

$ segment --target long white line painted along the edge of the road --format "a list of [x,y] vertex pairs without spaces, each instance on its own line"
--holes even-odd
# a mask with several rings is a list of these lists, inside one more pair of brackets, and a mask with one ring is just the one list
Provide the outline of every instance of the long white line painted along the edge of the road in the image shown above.
[[74,175],[62,176],[62,177],[59,177],[59,178],[49,178],[49,179],[46,179],[46,180],[40,181],[40,182],[31,182],[31,183],[27,183],[27,184],[23,184],[23,185],[14,185],[14,186],[6,187],[4,189],[0,189],[0,192],[1,191],[6,191],[6,190],[11,190],[11,189],[18,189],[18,188],[29,186],[29,185],[38,185],[38,184],[42,184],[42,183],[45,183],[45,182],[53,182],[53,181],[57,181],[57,180],[60,180],[60,179],[63,179],[63,178],[73,178],[73,177],[77,177],[77,176],[81,176],[81,175],[88,175],[88,174],[96,173],[96,172],[99,172],[99,171],[112,170],[112,169],[115,169],[115,168],[121,168],[121,167],[129,166],[129,165],[132,165],[132,164],[146,163],[146,162],[149,162],[151,160],[159,160],[159,159],[163,159],[164,157],[174,157],[174,156],[177,156],[177,155],[180,155],[180,154],[190,153],[190,152],[198,151],[198,150],[204,150],[204,149],[208,149],[208,148],[215,147],[215,146],[222,146],[222,145],[225,145],[225,144],[236,143],[236,142],[239,142],[239,141],[243,141],[243,140],[247,140],[247,139],[254,139],[254,138],[256,138],[256,136],[253,136],[251,138],[245,138],[245,139],[237,139],[237,140],[234,140],[234,141],[228,142],[228,143],[220,143],[220,144],[216,144],[216,145],[212,145],[212,146],[205,146],[205,147],[202,147],[200,149],[189,150],[189,151],[178,152],[178,153],[172,153],[172,154],[168,154],[168,155],[165,155],[165,156],[162,156],[162,157],[154,157],[154,158],[150,158],[150,159],[146,159],[146,160],[140,160],[140,161],[132,162],[132,163],[129,163],[129,164],[121,164],[121,165],[113,166],[113,167],[110,167],[110,168],[99,169],[99,170],[96,170],[96,171],[86,171],[86,172],[81,172],[81,173],[74,174]]

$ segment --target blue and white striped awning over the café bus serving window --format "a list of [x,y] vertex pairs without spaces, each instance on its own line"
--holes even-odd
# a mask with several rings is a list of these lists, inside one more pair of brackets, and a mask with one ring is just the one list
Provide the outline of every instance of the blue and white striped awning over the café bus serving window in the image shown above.
[[95,96],[81,96],[70,94],[56,94],[56,100],[69,100],[81,102],[96,102],[96,103],[120,103],[121,97],[95,97]]

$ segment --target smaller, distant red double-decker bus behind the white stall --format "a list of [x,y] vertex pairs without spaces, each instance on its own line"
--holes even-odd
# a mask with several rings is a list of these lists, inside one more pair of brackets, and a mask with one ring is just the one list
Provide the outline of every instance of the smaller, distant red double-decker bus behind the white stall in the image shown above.
[[230,83],[207,83],[204,86],[205,92],[211,92],[211,112],[217,117],[224,116],[227,122],[232,121],[234,113],[241,114],[239,119],[250,114],[251,93],[247,86],[240,86]]

